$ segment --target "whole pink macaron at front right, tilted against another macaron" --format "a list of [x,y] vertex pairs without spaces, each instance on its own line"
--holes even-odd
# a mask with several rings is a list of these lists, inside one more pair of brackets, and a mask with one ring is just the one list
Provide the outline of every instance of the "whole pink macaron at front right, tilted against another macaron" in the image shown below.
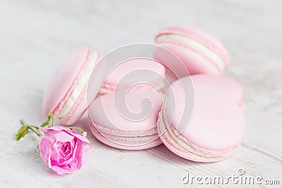
[[[193,95],[183,92],[183,77],[171,85],[159,115],[162,142],[178,156],[191,161],[215,162],[238,149],[245,131],[243,112],[237,102],[212,84],[193,84]],[[190,98],[193,98],[190,100]],[[185,108],[194,106],[192,113]]]

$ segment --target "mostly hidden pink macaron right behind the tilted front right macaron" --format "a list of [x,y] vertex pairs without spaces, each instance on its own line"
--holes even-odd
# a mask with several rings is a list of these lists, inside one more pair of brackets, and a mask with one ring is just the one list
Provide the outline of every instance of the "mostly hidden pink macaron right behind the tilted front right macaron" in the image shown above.
[[244,108],[245,103],[243,89],[235,80],[232,80],[228,77],[215,75],[192,75],[191,79],[194,84],[211,84],[215,87],[218,87],[219,89],[222,89],[224,92],[232,96],[232,98],[237,102],[240,108]]

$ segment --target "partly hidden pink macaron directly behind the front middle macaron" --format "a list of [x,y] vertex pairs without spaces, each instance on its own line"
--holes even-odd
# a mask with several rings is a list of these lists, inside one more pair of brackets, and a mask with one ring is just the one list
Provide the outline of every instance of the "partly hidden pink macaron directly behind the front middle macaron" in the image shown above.
[[164,89],[165,68],[157,61],[135,58],[116,65],[104,80],[102,91],[107,94],[129,87]]

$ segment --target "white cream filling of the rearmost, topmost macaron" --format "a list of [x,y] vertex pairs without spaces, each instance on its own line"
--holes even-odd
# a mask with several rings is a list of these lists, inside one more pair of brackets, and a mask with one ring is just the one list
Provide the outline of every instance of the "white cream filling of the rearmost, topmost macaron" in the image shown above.
[[201,44],[201,43],[199,43],[199,42],[197,42],[197,41],[195,41],[195,40],[193,40],[189,37],[185,37],[185,36],[182,36],[182,35],[168,34],[168,35],[161,35],[160,37],[157,38],[157,42],[161,42],[162,40],[168,41],[168,42],[180,42],[180,43],[183,43],[187,46],[191,46],[192,49],[200,51],[202,54],[209,57],[214,63],[216,63],[216,65],[218,65],[218,67],[221,71],[223,71],[224,68],[225,68],[225,64],[221,60],[219,55],[214,53],[214,51],[210,50],[209,48],[207,48],[203,44]]

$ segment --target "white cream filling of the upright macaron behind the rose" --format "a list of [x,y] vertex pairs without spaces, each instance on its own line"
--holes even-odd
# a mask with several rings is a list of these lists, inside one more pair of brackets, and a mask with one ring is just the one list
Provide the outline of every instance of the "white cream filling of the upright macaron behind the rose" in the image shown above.
[[80,96],[80,93],[85,87],[85,84],[87,84],[88,80],[90,79],[90,75],[97,61],[97,57],[98,57],[97,52],[93,52],[92,56],[90,57],[90,60],[88,61],[88,65],[85,72],[83,73],[78,83],[75,85],[73,89],[73,93],[68,98],[68,101],[66,102],[65,106],[63,106],[63,108],[59,112],[58,114],[59,119],[63,118],[63,116],[66,115],[68,111],[71,110],[71,107],[75,104],[75,101],[78,100],[78,97]]

